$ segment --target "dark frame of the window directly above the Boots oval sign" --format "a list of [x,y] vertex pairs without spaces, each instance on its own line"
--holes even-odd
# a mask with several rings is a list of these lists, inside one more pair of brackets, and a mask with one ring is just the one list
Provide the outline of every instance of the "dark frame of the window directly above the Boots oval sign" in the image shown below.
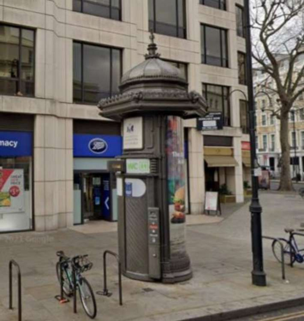
[[95,102],[87,102],[84,100],[84,82],[83,82],[83,70],[84,70],[84,59],[83,59],[83,45],[89,45],[89,46],[95,46],[95,47],[103,47],[103,48],[108,48],[110,49],[110,78],[109,78],[109,82],[110,82],[110,94],[109,97],[111,97],[113,95],[112,92],[112,71],[113,71],[113,64],[112,64],[112,49],[116,49],[120,51],[120,78],[122,77],[123,74],[123,49],[122,48],[117,48],[117,47],[111,47],[111,46],[104,46],[104,45],[100,45],[100,44],[96,44],[96,43],[91,43],[91,42],[86,42],[86,41],[79,41],[79,40],[73,40],[73,45],[74,43],[78,43],[81,45],[81,101],[75,101],[74,100],[74,70],[73,70],[73,104],[78,104],[78,105],[96,105]]

